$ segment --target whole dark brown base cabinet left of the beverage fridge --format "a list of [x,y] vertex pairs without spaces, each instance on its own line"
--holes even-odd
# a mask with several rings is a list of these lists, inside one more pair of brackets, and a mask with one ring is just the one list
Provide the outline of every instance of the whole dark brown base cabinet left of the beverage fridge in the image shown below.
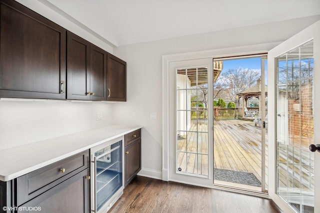
[[89,165],[86,150],[0,181],[1,212],[90,212]]

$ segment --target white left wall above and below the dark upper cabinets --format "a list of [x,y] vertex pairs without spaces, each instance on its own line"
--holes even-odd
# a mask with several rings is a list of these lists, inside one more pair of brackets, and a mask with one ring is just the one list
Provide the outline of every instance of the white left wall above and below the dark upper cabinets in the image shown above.
[[[35,12],[100,48],[113,53],[107,39],[58,11],[46,0],[17,0]],[[43,3],[41,3],[43,2]],[[65,100],[10,101],[0,100],[0,149],[87,130],[113,123],[115,103],[70,102]],[[96,113],[102,120],[96,120]]]

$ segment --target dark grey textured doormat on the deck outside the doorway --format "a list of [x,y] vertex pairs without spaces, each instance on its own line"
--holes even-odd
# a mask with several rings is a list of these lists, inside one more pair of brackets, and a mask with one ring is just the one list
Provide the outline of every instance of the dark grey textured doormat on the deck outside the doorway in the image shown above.
[[246,185],[261,186],[261,182],[253,173],[214,168],[214,179]]

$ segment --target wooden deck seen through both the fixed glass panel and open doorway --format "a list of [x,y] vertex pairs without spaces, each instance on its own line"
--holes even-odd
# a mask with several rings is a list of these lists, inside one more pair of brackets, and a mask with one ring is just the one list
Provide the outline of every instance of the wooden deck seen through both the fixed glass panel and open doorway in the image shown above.
[[[201,163],[207,162],[206,154],[208,153],[207,133],[202,133],[207,132],[205,122],[206,120],[200,121],[196,125],[192,120],[190,132],[177,140],[177,150],[181,151],[178,152],[177,163],[182,171],[208,174],[207,164]],[[200,131],[198,137],[195,132],[196,126]],[[214,120],[213,138],[214,168],[251,172],[261,181],[261,129],[259,127],[247,120]],[[183,152],[185,150],[195,152],[196,148],[203,153],[198,161],[195,154]]]

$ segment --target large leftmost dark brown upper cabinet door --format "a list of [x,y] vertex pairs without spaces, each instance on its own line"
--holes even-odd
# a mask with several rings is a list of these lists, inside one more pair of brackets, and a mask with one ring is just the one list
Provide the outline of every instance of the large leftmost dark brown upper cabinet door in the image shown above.
[[64,99],[65,44],[64,28],[1,0],[0,97]]

